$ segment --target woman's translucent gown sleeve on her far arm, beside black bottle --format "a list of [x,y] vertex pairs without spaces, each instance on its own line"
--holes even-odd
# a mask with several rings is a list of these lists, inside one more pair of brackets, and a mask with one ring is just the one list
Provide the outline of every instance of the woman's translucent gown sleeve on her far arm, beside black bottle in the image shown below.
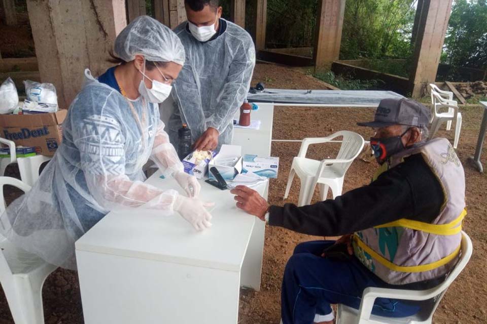
[[151,159],[162,171],[164,176],[173,176],[180,171],[184,171],[183,164],[179,160],[178,153],[169,142],[169,135],[164,131],[164,123],[159,120],[154,146],[152,147]]

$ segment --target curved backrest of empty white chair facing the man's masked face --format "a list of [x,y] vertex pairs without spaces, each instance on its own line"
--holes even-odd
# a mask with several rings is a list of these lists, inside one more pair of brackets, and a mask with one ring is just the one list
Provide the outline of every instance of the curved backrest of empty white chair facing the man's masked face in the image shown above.
[[[340,150],[338,151],[338,154],[334,159],[335,161],[333,162],[333,168],[340,173],[345,174],[352,165],[354,159],[360,154],[360,152],[364,148],[364,138],[359,134],[350,131],[339,131],[331,135],[330,137],[342,137]],[[318,174],[321,175],[324,167],[326,167],[330,163],[330,160],[322,160],[322,166]]]

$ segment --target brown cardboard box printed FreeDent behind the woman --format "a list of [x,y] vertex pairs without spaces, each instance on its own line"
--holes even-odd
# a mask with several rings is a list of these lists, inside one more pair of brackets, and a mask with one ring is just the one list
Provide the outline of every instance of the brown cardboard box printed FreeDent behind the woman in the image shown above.
[[36,147],[38,154],[52,156],[62,139],[61,124],[67,109],[32,115],[0,115],[0,136],[18,146]]

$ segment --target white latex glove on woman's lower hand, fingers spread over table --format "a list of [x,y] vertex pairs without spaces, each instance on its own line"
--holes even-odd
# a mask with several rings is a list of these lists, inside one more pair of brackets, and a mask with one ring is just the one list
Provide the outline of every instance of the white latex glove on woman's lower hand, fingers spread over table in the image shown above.
[[213,207],[214,205],[214,203],[204,202],[198,198],[188,198],[178,195],[173,209],[179,212],[197,231],[202,231],[212,226],[212,223],[210,223],[212,215],[206,208]]

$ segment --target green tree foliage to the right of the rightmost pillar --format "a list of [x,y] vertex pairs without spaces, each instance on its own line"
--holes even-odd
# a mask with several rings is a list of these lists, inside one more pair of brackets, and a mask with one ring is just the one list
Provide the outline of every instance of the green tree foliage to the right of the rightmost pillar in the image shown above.
[[487,67],[485,0],[456,0],[451,11],[442,61],[455,66]]

